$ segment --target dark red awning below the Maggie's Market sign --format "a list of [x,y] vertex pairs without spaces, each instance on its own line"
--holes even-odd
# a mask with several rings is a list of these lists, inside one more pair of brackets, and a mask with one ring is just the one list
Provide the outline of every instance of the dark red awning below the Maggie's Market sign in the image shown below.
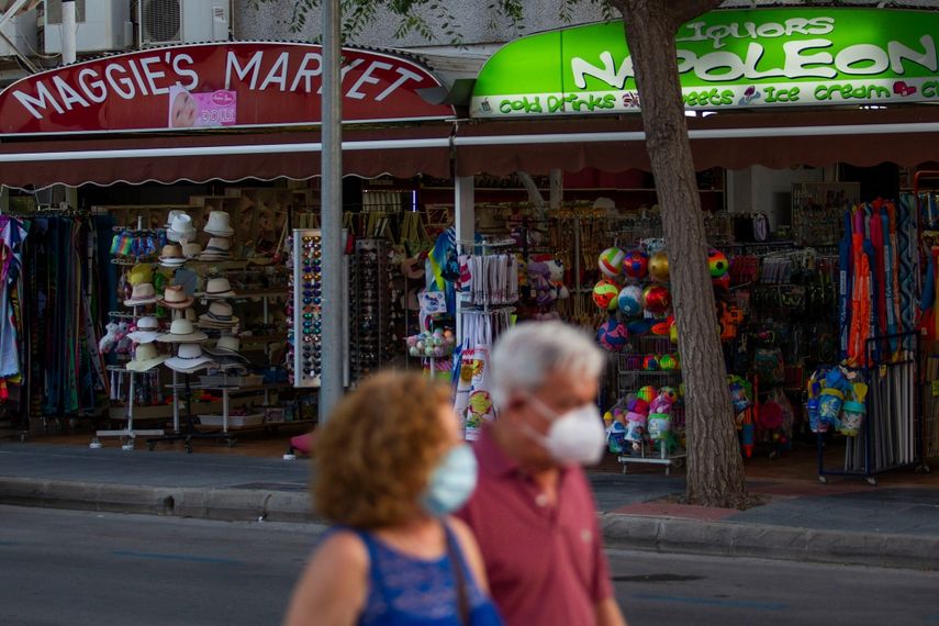
[[[449,178],[450,132],[449,124],[344,131],[344,141],[361,149],[344,153],[343,171],[364,177],[424,172]],[[318,131],[4,142],[0,143],[0,183],[43,188],[119,181],[305,179],[320,175],[320,152]]]

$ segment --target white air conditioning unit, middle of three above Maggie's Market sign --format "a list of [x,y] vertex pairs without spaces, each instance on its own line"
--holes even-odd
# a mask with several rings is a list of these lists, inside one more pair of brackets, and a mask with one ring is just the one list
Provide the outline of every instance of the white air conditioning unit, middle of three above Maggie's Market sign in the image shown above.
[[[123,51],[134,45],[134,24],[127,0],[75,0],[76,52]],[[42,18],[43,49],[62,53],[62,0],[46,0]]]

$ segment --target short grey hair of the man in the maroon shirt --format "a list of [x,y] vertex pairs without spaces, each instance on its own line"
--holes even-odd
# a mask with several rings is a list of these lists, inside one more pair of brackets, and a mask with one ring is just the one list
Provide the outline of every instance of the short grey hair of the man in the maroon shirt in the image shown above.
[[606,359],[582,331],[561,322],[511,328],[492,350],[492,399],[504,406],[515,391],[535,391],[552,371],[599,378]]

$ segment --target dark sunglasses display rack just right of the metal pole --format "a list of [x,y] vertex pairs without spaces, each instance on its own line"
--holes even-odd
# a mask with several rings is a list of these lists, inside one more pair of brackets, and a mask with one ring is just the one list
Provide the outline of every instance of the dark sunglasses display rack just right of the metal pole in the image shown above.
[[356,242],[350,277],[351,379],[377,372],[398,348],[391,323],[391,246],[385,239]]

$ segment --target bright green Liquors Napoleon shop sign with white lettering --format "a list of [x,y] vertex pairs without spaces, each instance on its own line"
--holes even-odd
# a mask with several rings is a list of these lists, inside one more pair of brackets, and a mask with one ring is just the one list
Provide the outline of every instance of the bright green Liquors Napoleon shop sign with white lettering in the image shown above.
[[[678,65],[688,109],[939,102],[939,12],[715,11],[684,24]],[[619,21],[506,44],[473,88],[474,118],[638,111]]]

